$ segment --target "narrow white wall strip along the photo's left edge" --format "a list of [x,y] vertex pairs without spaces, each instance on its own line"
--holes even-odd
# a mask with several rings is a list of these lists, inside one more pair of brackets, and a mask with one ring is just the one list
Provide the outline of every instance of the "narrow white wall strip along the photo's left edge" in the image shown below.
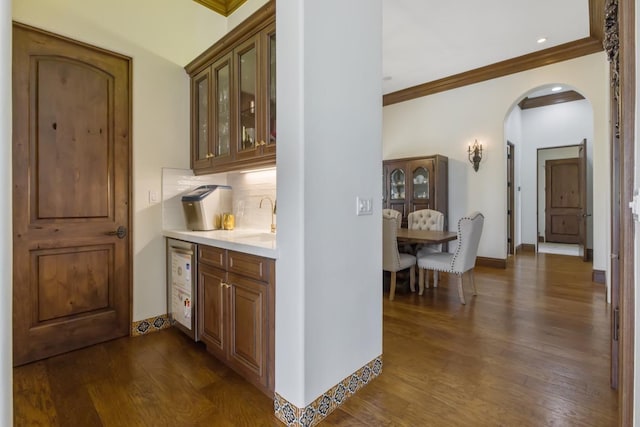
[[11,2],[0,0],[0,426],[13,425]]

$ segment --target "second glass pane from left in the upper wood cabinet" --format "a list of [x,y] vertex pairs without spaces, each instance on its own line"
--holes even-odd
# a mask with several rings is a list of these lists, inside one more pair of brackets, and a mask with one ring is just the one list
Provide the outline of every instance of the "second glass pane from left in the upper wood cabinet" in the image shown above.
[[213,64],[214,79],[214,157],[222,160],[231,153],[231,56]]

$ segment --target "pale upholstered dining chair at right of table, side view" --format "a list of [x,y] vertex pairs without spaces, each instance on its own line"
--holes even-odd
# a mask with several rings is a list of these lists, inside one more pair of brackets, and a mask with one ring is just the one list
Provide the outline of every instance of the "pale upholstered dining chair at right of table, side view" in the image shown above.
[[[455,253],[428,253],[419,255],[418,268],[419,278],[418,286],[419,294],[424,292],[424,270],[433,270],[433,287],[438,287],[438,272],[444,271],[454,273],[458,276],[458,296],[460,302],[465,304],[464,289],[462,288],[462,276],[469,272],[469,280],[473,289],[473,295],[477,294],[476,284],[473,279],[473,269],[476,265],[476,257],[478,255],[478,244],[482,235],[482,226],[484,225],[484,216],[480,212],[460,218],[458,221],[458,247]],[[427,283],[427,287],[428,287]]]

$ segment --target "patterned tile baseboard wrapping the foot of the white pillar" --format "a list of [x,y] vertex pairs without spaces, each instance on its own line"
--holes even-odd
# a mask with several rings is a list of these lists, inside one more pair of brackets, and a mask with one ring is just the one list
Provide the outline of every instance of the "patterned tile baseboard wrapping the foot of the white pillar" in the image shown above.
[[275,393],[273,409],[276,417],[288,426],[315,426],[381,372],[382,355],[340,381],[305,408],[298,408]]

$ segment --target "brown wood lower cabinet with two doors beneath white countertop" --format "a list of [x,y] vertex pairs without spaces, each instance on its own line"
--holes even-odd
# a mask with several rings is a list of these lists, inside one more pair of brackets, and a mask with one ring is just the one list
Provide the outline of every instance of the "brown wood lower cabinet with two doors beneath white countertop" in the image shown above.
[[200,338],[207,351],[272,396],[275,261],[219,248],[200,247]]

